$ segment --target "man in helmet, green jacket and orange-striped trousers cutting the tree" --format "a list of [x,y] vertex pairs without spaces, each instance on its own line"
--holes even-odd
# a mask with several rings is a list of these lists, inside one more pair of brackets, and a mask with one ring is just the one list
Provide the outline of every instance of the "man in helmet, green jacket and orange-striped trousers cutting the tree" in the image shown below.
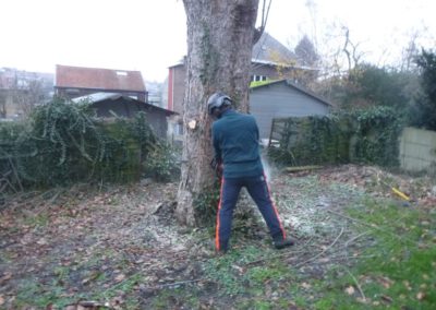
[[207,102],[208,114],[216,119],[211,126],[216,169],[222,171],[217,214],[216,249],[227,252],[233,210],[243,187],[256,203],[276,249],[293,245],[286,238],[277,208],[270,198],[259,154],[259,133],[253,116],[239,114],[223,93],[215,93]]

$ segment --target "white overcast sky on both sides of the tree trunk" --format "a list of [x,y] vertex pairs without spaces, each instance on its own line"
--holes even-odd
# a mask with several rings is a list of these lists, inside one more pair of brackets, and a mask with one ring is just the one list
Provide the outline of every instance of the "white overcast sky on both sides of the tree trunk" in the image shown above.
[[[0,67],[140,70],[162,82],[186,53],[182,0],[0,0]],[[436,46],[435,12],[434,0],[272,0],[266,31],[291,48],[307,34],[327,50],[340,46],[331,37],[346,25],[371,61],[386,63],[413,33]]]

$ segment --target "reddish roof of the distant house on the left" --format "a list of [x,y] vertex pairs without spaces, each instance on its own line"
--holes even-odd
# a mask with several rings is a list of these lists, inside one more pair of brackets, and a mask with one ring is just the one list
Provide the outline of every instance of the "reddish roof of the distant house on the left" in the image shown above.
[[146,92],[140,71],[56,65],[56,87]]

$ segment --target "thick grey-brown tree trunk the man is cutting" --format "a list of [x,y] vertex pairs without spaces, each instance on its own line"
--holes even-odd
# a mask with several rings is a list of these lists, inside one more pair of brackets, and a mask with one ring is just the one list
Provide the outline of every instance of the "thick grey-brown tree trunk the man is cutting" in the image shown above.
[[214,176],[206,102],[221,91],[249,108],[250,65],[258,0],[183,0],[187,17],[183,160],[177,216],[195,225],[194,203]]

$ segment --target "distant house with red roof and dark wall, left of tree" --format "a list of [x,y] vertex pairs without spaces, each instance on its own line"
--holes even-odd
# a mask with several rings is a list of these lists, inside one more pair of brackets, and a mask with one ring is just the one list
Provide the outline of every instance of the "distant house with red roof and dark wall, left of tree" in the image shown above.
[[148,102],[140,71],[57,64],[55,93],[69,99],[94,93],[118,93],[141,102]]

